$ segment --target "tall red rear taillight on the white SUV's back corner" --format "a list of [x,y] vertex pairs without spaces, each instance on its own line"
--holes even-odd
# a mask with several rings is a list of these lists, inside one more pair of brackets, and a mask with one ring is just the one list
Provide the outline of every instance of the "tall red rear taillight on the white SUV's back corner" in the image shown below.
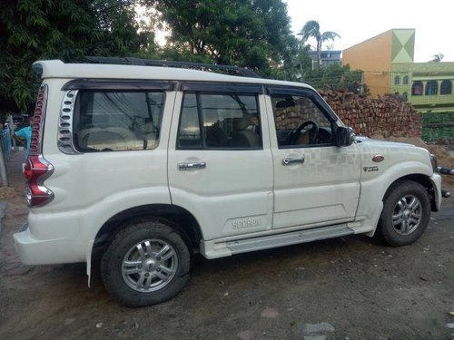
[[30,207],[40,207],[54,199],[54,193],[44,187],[44,180],[54,171],[54,167],[42,155],[43,125],[47,99],[47,86],[41,86],[36,100],[32,140],[28,159],[25,162],[24,175],[27,180],[25,199]]

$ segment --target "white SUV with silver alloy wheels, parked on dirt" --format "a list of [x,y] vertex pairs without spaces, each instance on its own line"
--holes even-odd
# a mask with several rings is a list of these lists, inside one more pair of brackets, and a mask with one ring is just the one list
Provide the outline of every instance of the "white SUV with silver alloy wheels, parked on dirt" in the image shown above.
[[308,85],[134,62],[34,64],[25,264],[90,276],[101,258],[111,295],[146,306],[178,294],[194,253],[350,234],[408,245],[439,209],[428,151],[354,138]]

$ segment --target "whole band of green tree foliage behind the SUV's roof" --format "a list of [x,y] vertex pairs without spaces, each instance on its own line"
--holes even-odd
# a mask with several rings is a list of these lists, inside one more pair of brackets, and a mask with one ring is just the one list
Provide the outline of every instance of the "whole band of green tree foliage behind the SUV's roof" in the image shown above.
[[[137,22],[137,4],[151,24]],[[171,35],[159,49],[153,31],[163,27]],[[30,110],[40,83],[36,60],[84,55],[233,64],[320,89],[359,87],[346,67],[311,71],[310,46],[291,34],[281,0],[10,0],[0,11],[0,36],[0,115]]]

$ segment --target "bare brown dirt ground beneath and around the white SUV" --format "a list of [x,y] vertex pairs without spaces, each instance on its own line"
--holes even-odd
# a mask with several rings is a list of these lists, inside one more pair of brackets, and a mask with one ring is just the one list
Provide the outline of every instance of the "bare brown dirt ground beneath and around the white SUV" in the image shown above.
[[[0,339],[454,339],[454,198],[411,246],[354,236],[196,257],[179,296],[131,309],[114,303],[97,267],[89,288],[84,265],[20,263],[12,236],[28,211],[21,157],[12,155],[11,188],[0,189],[8,202]],[[444,187],[454,192],[450,182]]]

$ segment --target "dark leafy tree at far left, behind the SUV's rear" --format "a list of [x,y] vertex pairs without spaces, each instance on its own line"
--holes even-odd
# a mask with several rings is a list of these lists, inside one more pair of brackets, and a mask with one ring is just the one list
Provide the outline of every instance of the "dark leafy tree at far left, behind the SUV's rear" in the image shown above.
[[[0,11],[0,113],[30,110],[40,80],[38,59],[126,55],[146,44],[133,0],[10,0]],[[145,42],[144,42],[145,40]],[[7,105],[4,105],[7,103]]]

